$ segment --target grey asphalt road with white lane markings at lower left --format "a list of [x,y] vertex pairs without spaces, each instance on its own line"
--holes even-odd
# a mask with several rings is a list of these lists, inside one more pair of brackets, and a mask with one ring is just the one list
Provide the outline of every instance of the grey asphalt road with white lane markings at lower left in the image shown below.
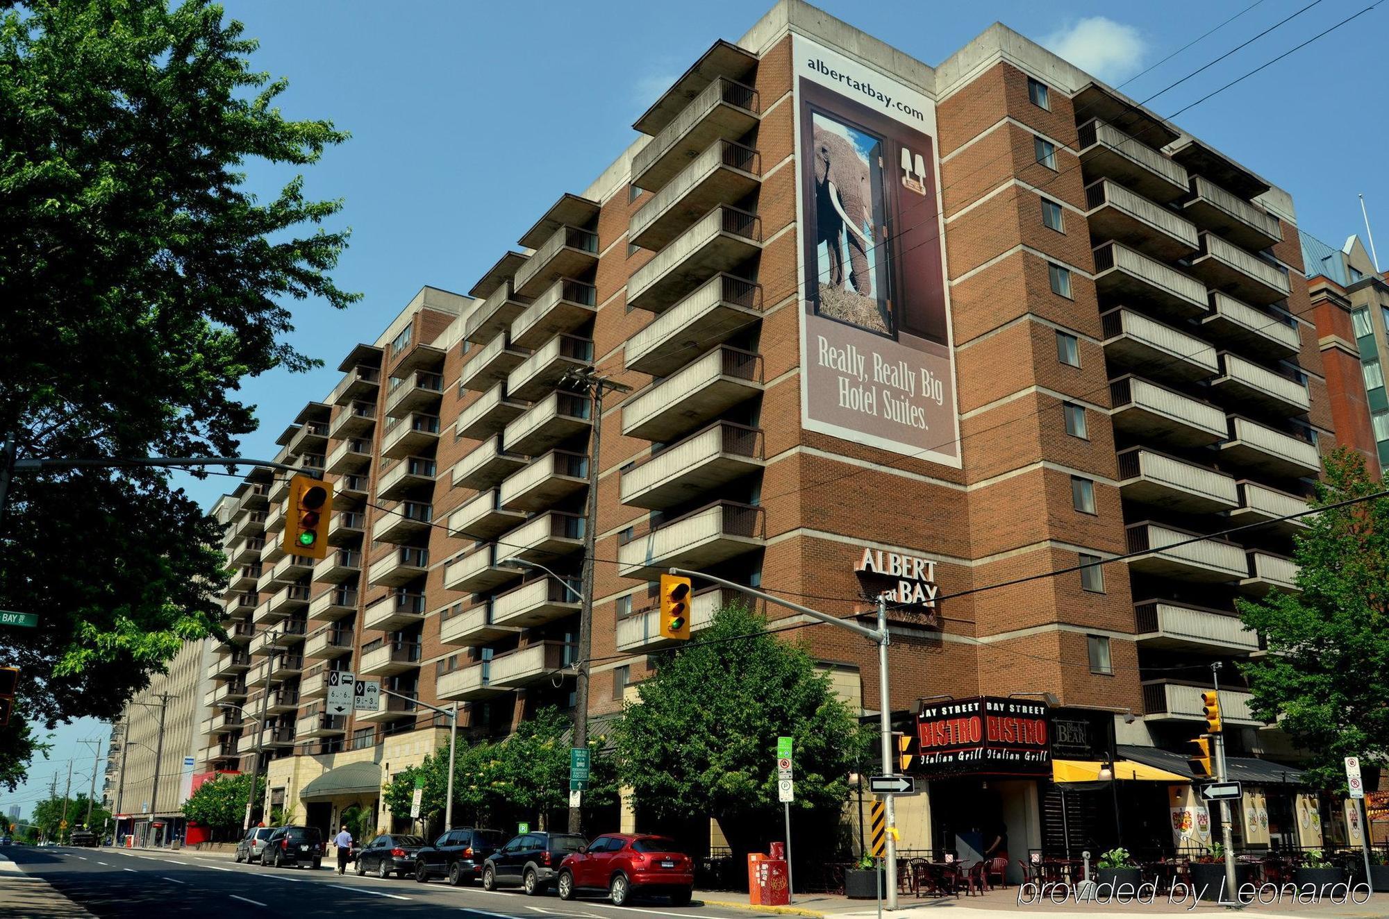
[[424,916],[440,911],[474,913],[475,919],[746,919],[728,908],[664,900],[638,900],[617,908],[593,897],[569,902],[554,893],[526,897],[517,891],[488,893],[481,887],[450,887],[442,882],[339,877],[335,870],[238,865],[231,855],[210,858],[163,851],[117,848],[33,848],[7,845],[26,875],[49,882],[97,916],[164,919],[165,916]]

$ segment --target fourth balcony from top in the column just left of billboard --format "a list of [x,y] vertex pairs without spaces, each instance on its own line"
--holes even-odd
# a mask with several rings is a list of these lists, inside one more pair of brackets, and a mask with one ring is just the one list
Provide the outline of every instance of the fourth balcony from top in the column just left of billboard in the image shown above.
[[722,344],[763,318],[763,287],[733,275],[714,275],[626,342],[626,366],[668,376],[690,362],[700,346]]

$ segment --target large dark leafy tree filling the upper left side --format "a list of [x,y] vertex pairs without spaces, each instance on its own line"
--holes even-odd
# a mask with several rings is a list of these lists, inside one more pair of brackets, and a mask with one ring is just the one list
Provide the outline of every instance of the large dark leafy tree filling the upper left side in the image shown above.
[[[346,139],[275,106],[283,79],[208,0],[0,0],[0,439],[22,460],[235,454],[247,375],[315,361],[286,300],[346,307],[339,201],[258,201],[251,161]],[[215,633],[219,528],[154,471],[21,472],[0,515],[0,634],[21,712],[114,718],[186,639]],[[0,734],[0,783],[32,743]]]

